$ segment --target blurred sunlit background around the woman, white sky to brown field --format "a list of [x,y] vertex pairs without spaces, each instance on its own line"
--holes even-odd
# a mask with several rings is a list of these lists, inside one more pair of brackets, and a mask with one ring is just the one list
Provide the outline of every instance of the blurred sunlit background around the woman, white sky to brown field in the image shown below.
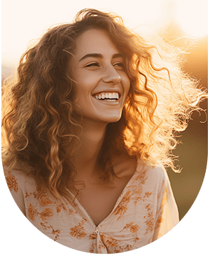
[[[29,41],[41,37],[51,25],[69,23],[83,8],[111,11],[123,17],[127,27],[141,34],[158,34],[179,47],[190,46],[184,70],[207,87],[207,0],[3,0],[1,81],[18,65]],[[202,103],[207,109],[207,102]],[[168,170],[181,219],[197,197],[207,167],[207,122],[202,113],[193,114],[193,121],[174,153],[181,174]]]

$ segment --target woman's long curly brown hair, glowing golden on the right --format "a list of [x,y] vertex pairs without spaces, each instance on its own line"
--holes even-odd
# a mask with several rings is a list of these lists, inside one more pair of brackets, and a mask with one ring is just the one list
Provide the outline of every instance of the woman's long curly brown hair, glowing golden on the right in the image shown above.
[[107,181],[114,174],[113,151],[179,172],[172,154],[176,132],[186,129],[192,111],[201,110],[199,103],[207,98],[207,91],[182,71],[179,49],[159,38],[149,43],[118,15],[84,9],[73,23],[50,27],[22,55],[15,78],[3,84],[2,160],[9,169],[31,167],[36,182],[56,198],[69,198],[69,190],[75,189],[73,155],[80,139],[73,130],[81,128],[82,117],[73,101],[76,86],[69,60],[76,39],[90,28],[109,34],[130,78],[122,117],[107,124],[97,159]]

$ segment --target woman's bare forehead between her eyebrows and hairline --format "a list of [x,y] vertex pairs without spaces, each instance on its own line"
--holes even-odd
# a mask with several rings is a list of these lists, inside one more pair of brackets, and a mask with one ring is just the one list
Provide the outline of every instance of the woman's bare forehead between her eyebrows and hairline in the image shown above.
[[83,57],[87,53],[101,53],[102,55],[118,53],[106,31],[90,29],[80,34],[76,39],[76,55]]

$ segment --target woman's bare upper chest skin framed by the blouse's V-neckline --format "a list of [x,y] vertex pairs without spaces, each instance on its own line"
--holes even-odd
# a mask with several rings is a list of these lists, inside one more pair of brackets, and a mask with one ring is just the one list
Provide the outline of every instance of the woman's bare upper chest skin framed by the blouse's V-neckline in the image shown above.
[[111,184],[104,183],[102,179],[84,180],[85,188],[80,190],[78,198],[80,205],[92,218],[94,224],[98,226],[115,207],[118,198],[123,193],[130,179],[137,169],[137,160],[135,158],[119,158],[113,165],[117,177],[113,178]]

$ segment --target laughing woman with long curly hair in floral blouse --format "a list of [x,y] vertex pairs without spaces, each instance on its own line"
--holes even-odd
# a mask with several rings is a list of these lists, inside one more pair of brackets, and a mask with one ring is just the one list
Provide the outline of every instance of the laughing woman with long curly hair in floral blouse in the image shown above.
[[127,252],[179,222],[165,167],[207,97],[179,51],[117,15],[85,9],[52,27],[3,87],[3,166],[36,229],[81,252]]

